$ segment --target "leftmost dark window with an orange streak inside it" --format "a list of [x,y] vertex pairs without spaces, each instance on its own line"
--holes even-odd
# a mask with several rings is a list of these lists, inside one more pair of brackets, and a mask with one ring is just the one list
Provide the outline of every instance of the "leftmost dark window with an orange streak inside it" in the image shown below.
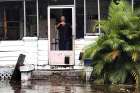
[[22,39],[24,16],[22,2],[0,3],[0,40]]

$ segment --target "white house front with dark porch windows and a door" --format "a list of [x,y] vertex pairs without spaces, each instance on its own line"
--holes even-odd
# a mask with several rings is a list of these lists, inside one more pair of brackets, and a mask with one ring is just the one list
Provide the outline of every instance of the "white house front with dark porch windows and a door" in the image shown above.
[[[132,9],[139,0],[128,0]],[[0,0],[0,66],[14,66],[19,54],[36,69],[80,69],[82,49],[101,33],[111,0]],[[59,49],[60,16],[71,25],[71,49]]]

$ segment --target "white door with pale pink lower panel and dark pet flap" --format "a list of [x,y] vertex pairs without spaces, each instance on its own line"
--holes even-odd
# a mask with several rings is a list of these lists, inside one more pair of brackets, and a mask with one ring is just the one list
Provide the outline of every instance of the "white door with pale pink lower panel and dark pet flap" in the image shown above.
[[49,6],[48,39],[50,65],[74,65],[74,36],[74,7]]

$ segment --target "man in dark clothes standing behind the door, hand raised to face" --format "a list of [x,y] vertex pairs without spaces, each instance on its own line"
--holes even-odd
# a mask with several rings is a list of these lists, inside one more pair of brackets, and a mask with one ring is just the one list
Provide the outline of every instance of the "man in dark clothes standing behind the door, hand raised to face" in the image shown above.
[[60,17],[56,27],[59,31],[59,50],[72,50],[72,28],[66,23],[65,16]]

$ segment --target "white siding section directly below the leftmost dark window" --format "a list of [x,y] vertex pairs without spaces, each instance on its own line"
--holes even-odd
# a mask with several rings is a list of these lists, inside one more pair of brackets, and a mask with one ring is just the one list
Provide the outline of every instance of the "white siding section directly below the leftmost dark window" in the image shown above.
[[1,41],[0,66],[16,64],[19,54],[22,53],[23,45],[23,41]]

